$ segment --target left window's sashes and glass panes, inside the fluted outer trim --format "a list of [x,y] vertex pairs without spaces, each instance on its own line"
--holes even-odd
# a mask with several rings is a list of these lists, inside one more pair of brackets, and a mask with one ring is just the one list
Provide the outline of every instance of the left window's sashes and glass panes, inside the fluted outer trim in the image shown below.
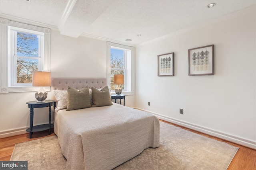
[[33,71],[43,70],[44,35],[17,27],[9,27],[9,32],[9,86],[32,86]]

